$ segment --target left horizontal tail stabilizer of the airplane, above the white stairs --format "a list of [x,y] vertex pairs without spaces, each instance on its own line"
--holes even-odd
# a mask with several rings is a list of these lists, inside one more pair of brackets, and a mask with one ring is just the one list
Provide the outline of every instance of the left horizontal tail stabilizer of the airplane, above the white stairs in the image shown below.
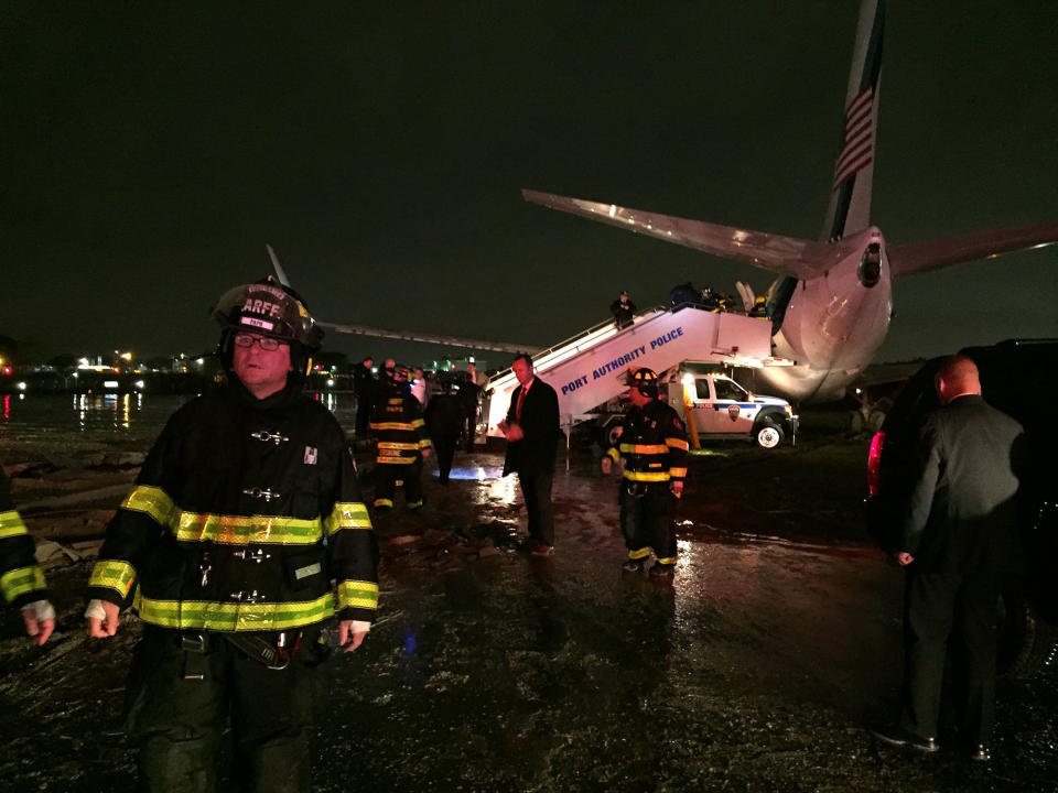
[[719,226],[671,215],[656,215],[616,204],[600,204],[528,189],[523,189],[521,194],[526,200],[549,209],[580,215],[634,233],[648,235],[666,242],[753,264],[780,275],[799,279],[821,275],[846,252],[842,251],[840,246],[827,242]]

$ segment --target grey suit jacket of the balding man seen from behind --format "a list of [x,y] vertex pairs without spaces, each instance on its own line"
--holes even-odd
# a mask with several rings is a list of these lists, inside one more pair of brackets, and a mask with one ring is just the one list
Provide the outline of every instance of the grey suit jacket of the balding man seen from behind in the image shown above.
[[979,395],[933,412],[919,435],[903,550],[919,573],[1002,573],[1015,562],[1022,425]]

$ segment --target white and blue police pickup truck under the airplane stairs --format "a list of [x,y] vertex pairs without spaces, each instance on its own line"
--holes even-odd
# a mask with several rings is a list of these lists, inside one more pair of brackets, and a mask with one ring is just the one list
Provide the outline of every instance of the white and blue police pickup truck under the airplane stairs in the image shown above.
[[[751,441],[768,449],[794,442],[797,416],[786,400],[749,393],[719,372],[680,369],[667,379],[661,398],[683,416],[688,431],[693,416],[701,439]],[[615,437],[626,406],[624,400],[612,400],[596,411],[596,439],[604,448]]]

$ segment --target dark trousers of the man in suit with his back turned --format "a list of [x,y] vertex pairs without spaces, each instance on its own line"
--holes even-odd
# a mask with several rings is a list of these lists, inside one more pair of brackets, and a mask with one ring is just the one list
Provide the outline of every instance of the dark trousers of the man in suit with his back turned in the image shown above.
[[1000,582],[994,575],[910,574],[904,601],[904,691],[900,726],[937,736],[949,637],[959,734],[975,747],[995,725],[995,621]]

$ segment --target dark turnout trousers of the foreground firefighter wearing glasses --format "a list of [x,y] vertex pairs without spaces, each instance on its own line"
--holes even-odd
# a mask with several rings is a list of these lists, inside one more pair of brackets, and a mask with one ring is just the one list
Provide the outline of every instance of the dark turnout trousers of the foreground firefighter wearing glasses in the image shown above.
[[[147,624],[127,688],[126,728],[139,748],[140,790],[218,790],[222,737],[231,727],[226,791],[310,789],[314,725],[325,707],[327,651],[309,629],[290,665],[260,661],[207,633],[204,652],[181,648],[181,632]],[[186,680],[185,674],[202,674]]]

